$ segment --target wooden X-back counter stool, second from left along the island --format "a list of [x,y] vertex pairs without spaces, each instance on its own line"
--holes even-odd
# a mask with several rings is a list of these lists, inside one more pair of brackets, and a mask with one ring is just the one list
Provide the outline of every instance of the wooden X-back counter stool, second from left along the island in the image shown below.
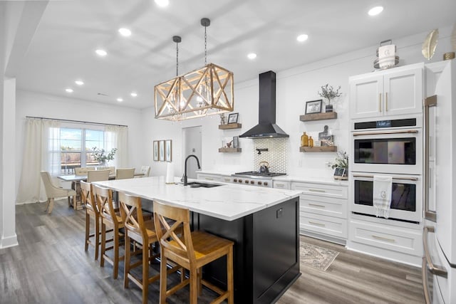
[[[109,172],[109,170],[107,170]],[[124,259],[124,256],[119,256],[120,233],[121,228],[124,227],[122,217],[115,211],[113,204],[113,192],[111,189],[100,187],[93,184],[93,196],[98,209],[100,210],[101,218],[101,252],[100,252],[100,266],[105,266],[105,261],[113,265],[113,278],[118,277],[119,261]],[[113,246],[106,248],[106,234],[107,228],[113,229]],[[106,251],[113,249],[113,258],[106,254]]]

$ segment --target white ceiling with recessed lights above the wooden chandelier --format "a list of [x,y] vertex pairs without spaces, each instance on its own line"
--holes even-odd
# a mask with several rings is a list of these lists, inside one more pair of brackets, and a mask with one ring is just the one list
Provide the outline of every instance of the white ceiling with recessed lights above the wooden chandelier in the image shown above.
[[[385,7],[383,13],[368,16],[376,5]],[[175,76],[172,36],[182,36],[179,73],[204,65],[203,17],[211,19],[207,61],[232,70],[240,82],[448,26],[455,12],[455,0],[170,0],[166,8],[153,0],[49,1],[17,71],[17,86],[147,108],[154,85]],[[120,36],[120,27],[130,28],[132,36]],[[297,42],[300,33],[309,40]],[[96,48],[108,56],[96,56]],[[250,52],[258,54],[254,61],[247,58]],[[85,84],[78,87],[77,79]]]

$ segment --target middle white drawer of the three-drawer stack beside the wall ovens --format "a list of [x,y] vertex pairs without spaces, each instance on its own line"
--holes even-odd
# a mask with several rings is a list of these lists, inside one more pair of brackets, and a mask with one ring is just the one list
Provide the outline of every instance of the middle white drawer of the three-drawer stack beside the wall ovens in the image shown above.
[[324,196],[301,194],[299,199],[299,210],[312,214],[325,216],[336,216],[347,219],[347,200],[333,199]]

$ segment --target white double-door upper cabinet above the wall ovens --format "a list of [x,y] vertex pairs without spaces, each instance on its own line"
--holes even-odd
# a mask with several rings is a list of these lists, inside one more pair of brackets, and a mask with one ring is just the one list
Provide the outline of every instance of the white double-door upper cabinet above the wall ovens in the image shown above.
[[423,112],[424,64],[350,78],[351,119]]

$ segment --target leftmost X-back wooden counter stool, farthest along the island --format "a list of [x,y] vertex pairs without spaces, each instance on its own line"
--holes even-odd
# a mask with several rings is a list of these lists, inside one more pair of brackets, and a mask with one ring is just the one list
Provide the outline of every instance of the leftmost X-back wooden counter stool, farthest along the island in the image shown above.
[[[95,260],[98,260],[98,249],[100,248],[100,211],[93,196],[92,184],[81,181],[81,196],[83,205],[86,206],[86,241],[84,242],[85,251],[88,246],[95,248]],[[90,219],[93,219],[93,229],[95,232],[90,234]],[[95,239],[92,241],[91,238]]]

